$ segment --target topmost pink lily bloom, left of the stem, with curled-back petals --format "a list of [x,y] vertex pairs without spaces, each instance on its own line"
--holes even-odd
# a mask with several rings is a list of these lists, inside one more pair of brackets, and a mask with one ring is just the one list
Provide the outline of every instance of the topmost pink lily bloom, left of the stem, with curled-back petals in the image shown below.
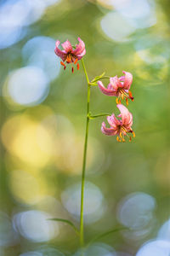
[[[77,69],[79,69],[79,64],[77,61],[81,60],[83,55],[86,54],[85,44],[82,41],[81,38],[77,38],[79,41],[79,44],[76,45],[76,47],[72,47],[69,40],[66,40],[65,43],[61,44],[63,47],[63,50],[59,49],[59,41],[56,41],[54,52],[56,55],[58,55],[62,61],[60,61],[60,64],[64,66],[64,69],[66,68],[66,63],[71,63],[71,70],[72,73],[74,72],[74,67],[72,66],[72,63],[77,64]],[[75,49],[74,49],[75,48]]]

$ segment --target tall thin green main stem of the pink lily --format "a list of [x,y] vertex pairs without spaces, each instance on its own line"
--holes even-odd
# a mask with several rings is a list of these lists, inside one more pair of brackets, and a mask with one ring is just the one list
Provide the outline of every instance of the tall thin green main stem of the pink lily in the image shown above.
[[90,84],[88,79],[88,73],[82,60],[82,67],[88,83],[88,97],[87,97],[87,118],[86,118],[86,134],[84,142],[84,153],[82,162],[82,190],[81,190],[81,212],[80,212],[80,244],[84,246],[84,223],[83,223],[83,206],[84,206],[84,184],[85,184],[85,171],[86,171],[86,160],[87,160],[87,149],[88,149],[88,125],[89,125],[89,108],[90,108]]

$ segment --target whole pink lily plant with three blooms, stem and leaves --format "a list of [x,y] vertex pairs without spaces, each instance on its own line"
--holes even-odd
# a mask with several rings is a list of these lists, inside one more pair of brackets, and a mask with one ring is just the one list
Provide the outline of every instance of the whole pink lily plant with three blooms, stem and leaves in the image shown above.
[[[132,135],[135,137],[135,133],[132,129],[133,125],[133,114],[128,111],[128,109],[122,105],[124,99],[128,105],[128,100],[131,99],[133,101],[132,92],[130,91],[131,85],[133,83],[133,75],[129,72],[122,71],[124,76],[118,78],[117,76],[114,77],[106,77],[105,73],[102,73],[99,76],[96,76],[91,81],[88,78],[88,73],[84,64],[82,57],[86,54],[85,44],[81,38],[77,38],[79,44],[76,46],[72,46],[70,41],[66,40],[65,43],[61,44],[63,49],[59,49],[59,41],[56,41],[56,47],[54,52],[56,55],[59,56],[61,59],[60,64],[64,67],[64,70],[67,65],[71,65],[71,72],[74,73],[73,65],[77,65],[77,70],[79,69],[78,61],[82,61],[82,68],[85,73],[85,77],[88,84],[88,96],[87,96],[87,117],[86,117],[86,132],[85,132],[85,142],[84,142],[84,152],[83,152],[83,160],[82,160],[82,189],[81,189],[81,212],[80,212],[80,229],[71,223],[70,220],[63,219],[63,218],[53,218],[51,220],[55,221],[62,221],[67,224],[70,224],[71,227],[77,232],[77,235],[80,237],[80,245],[83,249],[84,247],[84,220],[83,220],[83,207],[84,207],[84,184],[85,184],[85,171],[86,171],[86,160],[87,160],[87,150],[88,150],[88,126],[90,119],[95,119],[98,117],[107,116],[107,121],[110,128],[105,126],[105,122],[101,125],[101,131],[107,136],[116,136],[117,142],[125,143],[126,137],[128,137],[128,141],[132,141]],[[102,79],[109,79],[110,83],[108,84],[107,88],[105,88],[104,84],[102,83]],[[99,114],[91,114],[90,112],[90,90],[91,86],[98,86],[99,90],[106,96],[116,96],[116,107],[119,109],[120,114],[115,116],[114,113],[99,113]],[[112,230],[115,231],[115,230]],[[102,236],[111,233],[106,232]],[[83,255],[83,251],[82,251]]]

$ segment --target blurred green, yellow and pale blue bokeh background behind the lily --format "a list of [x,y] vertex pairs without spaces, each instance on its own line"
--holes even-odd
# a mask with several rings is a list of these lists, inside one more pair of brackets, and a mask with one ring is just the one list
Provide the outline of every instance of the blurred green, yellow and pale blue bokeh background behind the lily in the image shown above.
[[[85,238],[117,226],[86,256],[170,254],[170,4],[168,0],[2,0],[0,2],[0,255],[80,255],[82,148],[87,84],[64,71],[55,41],[79,36],[88,75],[133,73],[132,143],[90,122]],[[117,113],[92,88],[92,113]]]

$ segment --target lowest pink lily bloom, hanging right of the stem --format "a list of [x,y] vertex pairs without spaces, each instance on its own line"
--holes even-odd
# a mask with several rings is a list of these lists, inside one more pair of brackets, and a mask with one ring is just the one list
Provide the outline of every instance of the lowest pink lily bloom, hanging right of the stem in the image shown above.
[[133,132],[131,127],[133,125],[133,115],[122,104],[117,104],[116,107],[119,108],[121,112],[118,115],[118,118],[120,119],[116,119],[114,113],[112,113],[111,116],[107,116],[107,121],[109,125],[111,125],[111,127],[106,128],[105,122],[103,122],[101,126],[101,131],[108,136],[116,135],[116,140],[118,142],[125,142],[126,136],[129,137],[129,141],[131,142],[132,137],[128,136],[127,133],[132,133],[133,137],[135,137],[135,133]]

